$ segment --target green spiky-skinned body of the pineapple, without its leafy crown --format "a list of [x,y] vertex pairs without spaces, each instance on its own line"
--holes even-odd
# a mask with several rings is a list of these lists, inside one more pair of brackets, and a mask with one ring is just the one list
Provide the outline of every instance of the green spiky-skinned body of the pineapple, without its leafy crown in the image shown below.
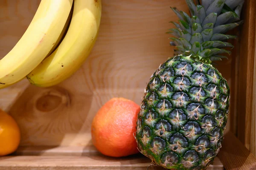
[[227,81],[212,65],[169,58],[145,88],[137,118],[140,152],[167,169],[205,169],[221,147],[229,98]]

